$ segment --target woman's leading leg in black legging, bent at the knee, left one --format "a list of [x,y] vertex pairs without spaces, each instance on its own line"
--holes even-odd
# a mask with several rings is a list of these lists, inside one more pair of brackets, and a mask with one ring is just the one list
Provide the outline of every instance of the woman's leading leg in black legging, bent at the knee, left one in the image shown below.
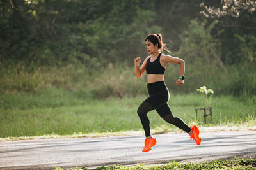
[[140,106],[138,108],[138,111],[137,111],[137,113],[140,117],[143,129],[145,131],[145,136],[146,137],[151,136],[151,134],[150,134],[150,123],[149,123],[149,120],[148,120],[147,113],[148,113],[148,111],[151,111],[153,109],[154,108],[151,106],[150,103],[147,102],[147,99],[146,99],[145,101],[143,101],[143,103],[140,104]]

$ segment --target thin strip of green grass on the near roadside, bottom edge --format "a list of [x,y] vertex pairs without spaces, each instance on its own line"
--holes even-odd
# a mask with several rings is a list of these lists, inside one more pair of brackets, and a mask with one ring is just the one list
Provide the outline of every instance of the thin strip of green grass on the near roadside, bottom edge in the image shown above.
[[[70,168],[71,170],[72,168]],[[76,169],[86,169],[86,167],[79,167]],[[180,162],[170,162],[168,164],[159,165],[137,165],[137,166],[102,166],[97,167],[100,169],[256,169],[256,160],[254,159],[230,159],[230,160],[211,160],[204,163],[180,163]],[[56,167],[55,170],[63,170],[61,167]]]

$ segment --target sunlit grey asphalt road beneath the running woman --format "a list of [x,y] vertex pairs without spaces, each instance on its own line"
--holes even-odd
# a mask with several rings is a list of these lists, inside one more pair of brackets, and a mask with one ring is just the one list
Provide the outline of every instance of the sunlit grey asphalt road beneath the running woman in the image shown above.
[[208,132],[200,136],[202,143],[197,146],[188,134],[154,135],[157,144],[146,153],[141,152],[144,136],[4,141],[0,142],[0,169],[90,169],[112,164],[256,158],[256,131]]

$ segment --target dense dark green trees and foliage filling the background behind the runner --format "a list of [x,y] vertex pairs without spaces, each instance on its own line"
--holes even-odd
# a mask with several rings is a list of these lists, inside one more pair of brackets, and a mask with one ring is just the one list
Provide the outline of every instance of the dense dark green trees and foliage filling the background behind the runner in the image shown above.
[[[134,57],[148,55],[145,36],[161,32],[172,55],[186,60],[186,92],[207,85],[217,94],[256,94],[255,4],[247,8],[243,1],[232,2],[0,1],[0,90],[22,91],[22,85],[8,87],[15,81],[10,72],[17,78],[20,65],[26,68],[22,74],[33,74],[42,66],[71,64],[83,68],[86,78],[110,63],[132,67]],[[224,11],[220,16],[218,9]],[[232,10],[239,15],[229,15]]]

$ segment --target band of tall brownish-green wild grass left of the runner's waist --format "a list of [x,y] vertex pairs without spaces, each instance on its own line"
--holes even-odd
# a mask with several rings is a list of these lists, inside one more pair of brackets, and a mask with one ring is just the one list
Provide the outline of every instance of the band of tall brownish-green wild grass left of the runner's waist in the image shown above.
[[[134,68],[126,64],[109,64],[98,71],[84,65],[27,68],[24,64],[1,67],[0,92],[40,93],[45,89],[67,89],[96,98],[124,97],[146,94],[145,76],[137,80]],[[91,96],[91,97],[92,97]]]

